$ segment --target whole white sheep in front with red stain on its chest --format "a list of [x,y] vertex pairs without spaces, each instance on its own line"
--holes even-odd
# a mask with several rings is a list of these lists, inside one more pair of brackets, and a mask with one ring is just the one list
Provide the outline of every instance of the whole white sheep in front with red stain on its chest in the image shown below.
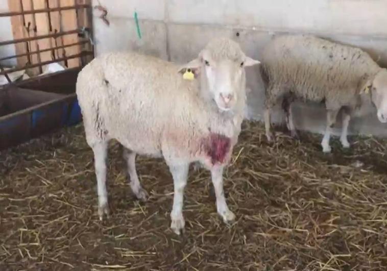
[[[257,63],[234,41],[215,39],[181,67],[136,53],[106,54],[85,66],[77,95],[94,152],[100,218],[108,214],[108,141],[116,139],[125,148],[130,186],[141,200],[147,193],[136,173],[136,154],[164,157],[174,180],[174,232],[180,234],[185,224],[183,192],[191,162],[211,170],[217,212],[224,221],[234,219],[223,192],[223,168],[244,116],[244,67]],[[195,73],[192,81],[182,76],[188,68]]]

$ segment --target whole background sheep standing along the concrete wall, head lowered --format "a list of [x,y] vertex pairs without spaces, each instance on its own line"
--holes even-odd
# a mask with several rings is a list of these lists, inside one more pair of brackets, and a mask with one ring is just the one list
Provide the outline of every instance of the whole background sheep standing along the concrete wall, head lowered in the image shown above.
[[327,127],[321,145],[330,152],[329,138],[337,113],[343,110],[341,142],[349,147],[347,131],[351,116],[365,103],[377,108],[380,122],[387,122],[387,70],[364,51],[321,38],[284,35],[270,41],[262,54],[261,77],[265,85],[264,122],[271,140],[270,109],[282,100],[286,124],[297,137],[291,103],[325,102]]

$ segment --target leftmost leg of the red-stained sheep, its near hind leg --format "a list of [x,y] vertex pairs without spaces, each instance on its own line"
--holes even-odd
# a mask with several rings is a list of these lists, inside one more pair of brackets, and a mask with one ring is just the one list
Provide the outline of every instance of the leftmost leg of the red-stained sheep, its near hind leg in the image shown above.
[[109,215],[108,193],[106,190],[106,163],[108,154],[108,143],[98,142],[91,146],[94,153],[95,176],[98,191],[98,215],[100,220],[104,214]]

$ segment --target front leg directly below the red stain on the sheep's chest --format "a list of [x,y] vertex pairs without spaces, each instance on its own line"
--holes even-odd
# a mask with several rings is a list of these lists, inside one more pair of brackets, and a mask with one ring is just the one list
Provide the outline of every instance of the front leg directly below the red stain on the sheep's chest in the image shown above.
[[211,169],[211,180],[215,190],[216,196],[216,210],[219,213],[223,221],[227,223],[235,219],[235,215],[230,211],[227,206],[225,193],[223,190],[223,166],[215,166]]

